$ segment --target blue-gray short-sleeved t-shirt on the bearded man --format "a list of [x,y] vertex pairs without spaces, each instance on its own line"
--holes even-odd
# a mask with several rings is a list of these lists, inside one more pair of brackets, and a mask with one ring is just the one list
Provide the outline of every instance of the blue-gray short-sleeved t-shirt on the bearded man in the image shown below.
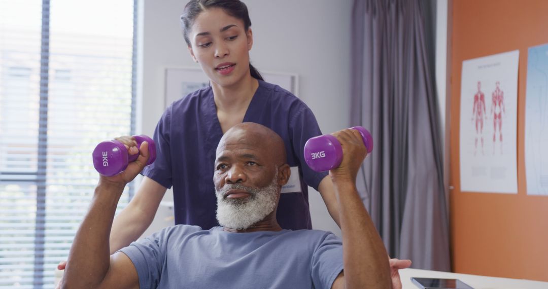
[[343,246],[320,230],[225,232],[168,227],[120,251],[141,288],[330,288]]

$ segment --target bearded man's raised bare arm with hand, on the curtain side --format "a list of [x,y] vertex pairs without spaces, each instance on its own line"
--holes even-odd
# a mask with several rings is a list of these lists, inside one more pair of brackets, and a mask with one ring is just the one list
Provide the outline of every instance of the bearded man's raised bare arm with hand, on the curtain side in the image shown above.
[[383,240],[356,189],[356,176],[367,149],[357,130],[342,130],[333,135],[343,147],[343,161],[329,175],[339,204],[344,264],[344,274],[335,280],[333,288],[391,288]]

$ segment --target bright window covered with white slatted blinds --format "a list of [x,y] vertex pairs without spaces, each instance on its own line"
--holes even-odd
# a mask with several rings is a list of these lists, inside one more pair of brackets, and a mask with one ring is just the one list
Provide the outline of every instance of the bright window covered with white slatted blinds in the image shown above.
[[93,148],[135,131],[136,6],[0,0],[0,287],[53,288],[98,181]]

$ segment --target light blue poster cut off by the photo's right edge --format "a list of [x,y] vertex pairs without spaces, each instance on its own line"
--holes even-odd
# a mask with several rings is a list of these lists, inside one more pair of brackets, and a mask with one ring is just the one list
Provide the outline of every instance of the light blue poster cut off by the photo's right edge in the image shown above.
[[525,104],[527,194],[548,195],[548,44],[529,48]]

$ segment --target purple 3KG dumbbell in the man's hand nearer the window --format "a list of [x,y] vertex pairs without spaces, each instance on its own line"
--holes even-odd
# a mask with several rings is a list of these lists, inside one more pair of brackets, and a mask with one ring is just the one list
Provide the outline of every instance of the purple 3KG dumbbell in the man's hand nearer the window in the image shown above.
[[[140,148],[144,141],[149,143],[149,161],[146,162],[146,165],[152,164],[156,159],[154,140],[146,135],[134,135],[133,137],[137,142],[137,148]],[[93,150],[93,166],[99,174],[110,177],[123,172],[128,164],[138,157],[139,154],[130,155],[122,142],[104,141]]]

